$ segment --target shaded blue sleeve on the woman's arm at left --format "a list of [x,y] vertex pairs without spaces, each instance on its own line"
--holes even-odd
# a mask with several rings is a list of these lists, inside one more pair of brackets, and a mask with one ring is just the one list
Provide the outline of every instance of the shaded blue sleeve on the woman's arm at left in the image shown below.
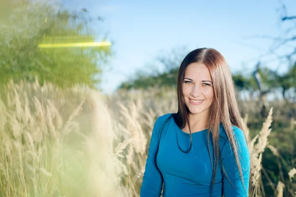
[[[159,118],[158,118],[159,119]],[[156,165],[156,155],[159,143],[159,120],[156,120],[149,145],[148,158],[140,192],[140,197],[160,197],[163,178]]]

